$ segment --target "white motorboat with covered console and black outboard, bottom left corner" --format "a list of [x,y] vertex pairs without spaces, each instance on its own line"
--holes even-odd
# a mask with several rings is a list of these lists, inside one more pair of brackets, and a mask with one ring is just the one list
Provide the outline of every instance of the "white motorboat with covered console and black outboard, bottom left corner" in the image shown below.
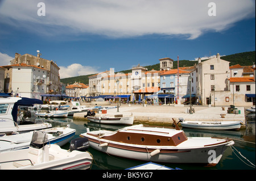
[[[35,131],[29,148],[1,153],[0,169],[2,170],[43,170],[43,169],[90,169],[92,155],[83,148],[88,140],[71,142],[71,149],[61,149],[59,145],[47,145],[47,134]],[[82,149],[81,149],[82,147]],[[75,150],[74,150],[75,149]],[[76,150],[78,149],[78,150]],[[82,151],[80,151],[82,150]]]

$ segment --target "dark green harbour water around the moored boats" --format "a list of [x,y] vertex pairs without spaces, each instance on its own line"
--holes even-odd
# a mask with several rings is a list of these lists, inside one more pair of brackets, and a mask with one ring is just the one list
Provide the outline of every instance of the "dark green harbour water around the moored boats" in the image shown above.
[[[245,129],[241,129],[240,131],[203,131],[197,129],[183,129],[188,137],[229,137],[233,138],[235,144],[233,145],[241,154],[246,157],[251,163],[255,165],[255,114],[247,114],[247,124]],[[67,124],[71,125],[71,128],[76,129],[76,135],[74,138],[79,137],[80,133],[85,133],[86,128],[90,128],[90,130],[98,130],[98,129],[107,129],[110,131],[115,131],[117,129],[123,128],[125,126],[118,125],[101,125],[97,123],[90,123],[88,121],[80,121],[80,120],[72,120],[72,117],[66,119],[49,119],[49,122],[52,123],[53,126],[64,126]],[[63,146],[64,149],[69,149],[69,144]],[[119,158],[112,155],[108,155],[106,153],[102,153],[100,151],[89,148],[88,150],[93,154],[94,162],[92,166],[92,170],[123,170],[129,167],[141,165],[146,163],[144,161],[134,161],[126,158]],[[237,152],[235,152],[239,155]],[[180,169],[185,170],[255,170],[253,167],[250,167],[250,163],[245,159],[241,161],[234,154],[231,148],[226,149],[224,155],[221,158],[221,161],[218,165],[214,167],[207,167],[196,164],[177,164],[177,163],[163,163],[165,166],[175,168],[178,167]],[[246,162],[248,165],[246,165]],[[161,163],[160,163],[161,164]]]

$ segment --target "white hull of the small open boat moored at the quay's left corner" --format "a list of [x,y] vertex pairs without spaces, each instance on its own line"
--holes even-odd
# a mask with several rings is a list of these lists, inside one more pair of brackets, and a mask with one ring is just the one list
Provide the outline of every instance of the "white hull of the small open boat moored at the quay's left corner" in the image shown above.
[[123,124],[123,125],[133,125],[134,116],[127,117],[93,117],[87,116],[89,121],[101,124]]

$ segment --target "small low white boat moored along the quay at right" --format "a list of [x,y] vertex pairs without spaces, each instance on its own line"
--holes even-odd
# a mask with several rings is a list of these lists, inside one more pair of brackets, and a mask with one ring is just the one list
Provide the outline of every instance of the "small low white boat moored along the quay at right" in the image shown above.
[[228,130],[240,129],[242,121],[182,121],[184,128]]

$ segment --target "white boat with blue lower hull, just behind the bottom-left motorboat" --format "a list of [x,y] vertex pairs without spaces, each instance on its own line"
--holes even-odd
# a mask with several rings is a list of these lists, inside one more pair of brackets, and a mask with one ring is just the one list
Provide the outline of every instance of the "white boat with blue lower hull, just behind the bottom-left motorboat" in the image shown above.
[[[49,144],[63,146],[71,141],[73,136],[75,136],[76,129],[71,129],[68,125],[67,127],[61,128],[42,129],[42,132],[45,132],[47,134]],[[32,135],[33,131],[0,137],[0,153],[3,151],[12,151],[28,148]]]

